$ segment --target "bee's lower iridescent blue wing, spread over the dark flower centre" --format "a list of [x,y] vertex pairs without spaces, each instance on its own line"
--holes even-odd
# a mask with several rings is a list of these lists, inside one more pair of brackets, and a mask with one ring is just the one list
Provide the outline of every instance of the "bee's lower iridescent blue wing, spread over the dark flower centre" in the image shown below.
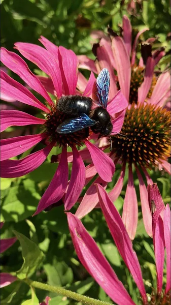
[[79,117],[65,119],[57,127],[56,132],[60,134],[69,134],[93,126],[95,123],[94,119],[91,119],[87,114],[82,113]]

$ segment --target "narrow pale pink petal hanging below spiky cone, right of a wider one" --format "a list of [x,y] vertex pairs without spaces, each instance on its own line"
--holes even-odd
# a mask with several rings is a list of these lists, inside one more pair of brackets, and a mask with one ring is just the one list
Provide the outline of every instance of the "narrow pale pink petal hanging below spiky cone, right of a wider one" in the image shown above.
[[146,185],[144,183],[144,180],[143,180],[142,175],[138,168],[136,168],[136,174],[138,175],[138,178],[139,178],[140,199],[141,199],[144,226],[145,226],[147,234],[149,234],[149,236],[152,237],[152,235],[153,235],[152,216],[151,216],[151,211],[150,211],[150,207],[149,207],[147,188],[146,188]]

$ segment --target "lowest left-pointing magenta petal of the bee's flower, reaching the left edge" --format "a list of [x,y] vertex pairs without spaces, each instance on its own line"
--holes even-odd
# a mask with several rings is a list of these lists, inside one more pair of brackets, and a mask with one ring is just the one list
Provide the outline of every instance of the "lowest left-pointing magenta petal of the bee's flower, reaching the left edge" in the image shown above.
[[1,177],[14,178],[24,176],[38,168],[49,155],[54,143],[36,151],[20,160],[4,160],[1,162]]

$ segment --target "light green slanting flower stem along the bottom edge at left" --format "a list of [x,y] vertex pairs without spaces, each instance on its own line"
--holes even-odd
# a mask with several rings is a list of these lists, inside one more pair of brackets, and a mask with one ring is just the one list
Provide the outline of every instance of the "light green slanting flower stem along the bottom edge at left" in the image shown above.
[[29,279],[25,279],[24,282],[32,287],[38,288],[38,289],[43,289],[43,290],[47,290],[47,291],[51,291],[51,292],[56,292],[58,295],[63,295],[66,297],[70,297],[78,302],[82,302],[83,304],[87,304],[87,305],[111,305],[111,303],[108,302],[104,302],[104,301],[100,301],[97,299],[93,299],[91,297],[85,296],[85,295],[81,295],[78,294],[76,292],[73,292],[71,290],[66,290],[62,287],[55,287],[55,286],[51,286],[48,284],[43,284],[40,282],[36,282],[36,281],[31,281]]

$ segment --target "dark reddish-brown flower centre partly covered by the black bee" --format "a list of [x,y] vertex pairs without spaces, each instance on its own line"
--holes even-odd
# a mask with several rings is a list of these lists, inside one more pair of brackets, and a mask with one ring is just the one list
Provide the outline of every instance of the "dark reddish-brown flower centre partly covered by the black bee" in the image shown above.
[[56,128],[59,126],[59,124],[70,117],[71,116],[59,111],[56,105],[54,105],[54,107],[51,108],[51,111],[46,115],[46,123],[43,125],[44,132],[46,132],[50,141],[56,141],[59,146],[82,146],[83,140],[89,136],[87,129],[70,134],[59,134],[56,132]]

